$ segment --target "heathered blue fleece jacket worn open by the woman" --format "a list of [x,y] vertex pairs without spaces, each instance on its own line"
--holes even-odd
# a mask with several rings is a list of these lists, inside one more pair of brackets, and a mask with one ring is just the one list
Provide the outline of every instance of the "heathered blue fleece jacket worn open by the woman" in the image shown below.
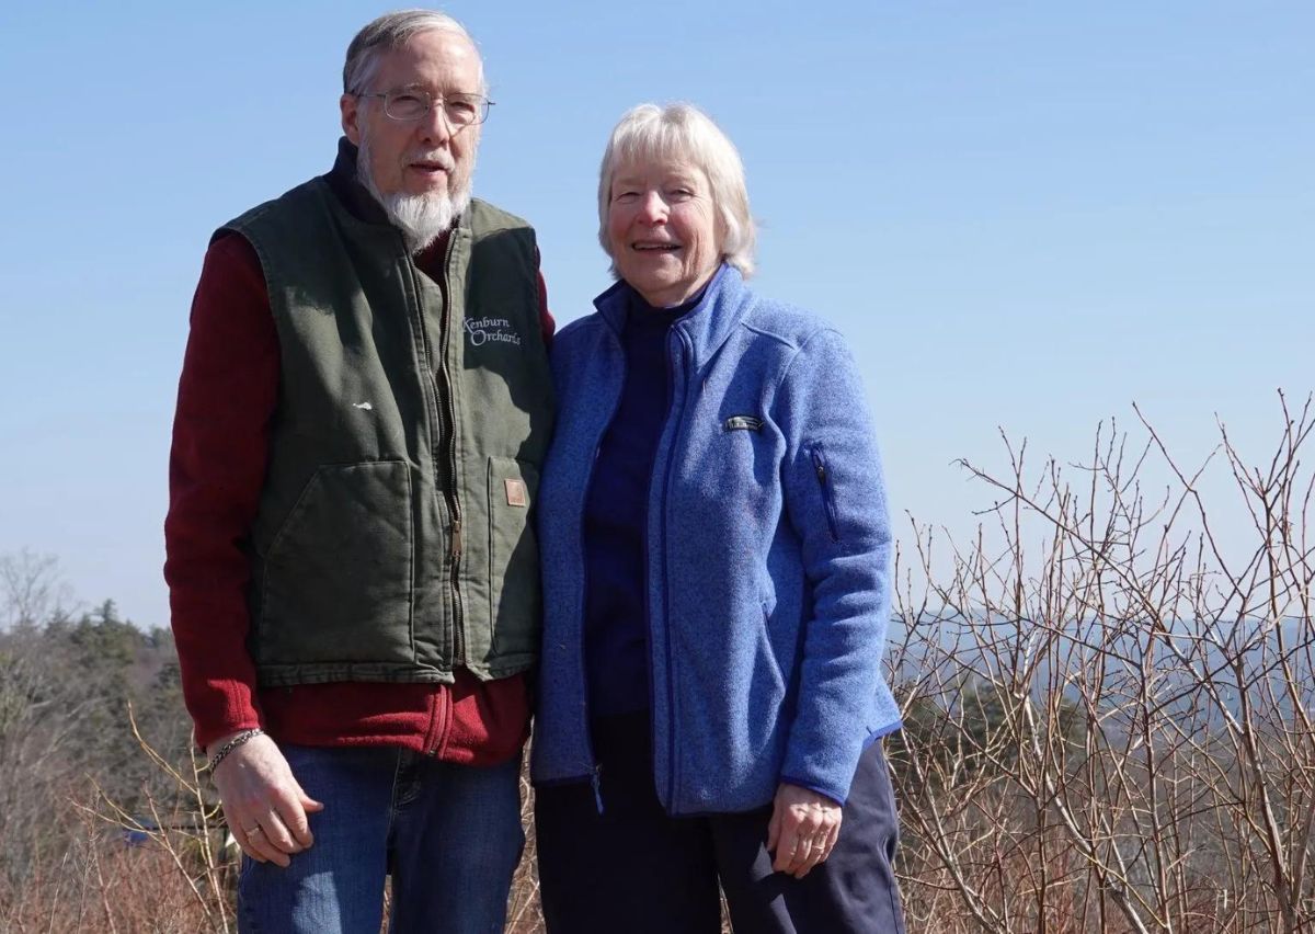
[[[539,489],[543,658],[537,784],[596,776],[583,659],[585,497],[625,383],[626,287],[552,346],[556,433]],[[899,727],[882,672],[885,484],[839,334],[723,266],[668,335],[671,410],[648,492],[654,771],[671,814],[844,801]]]

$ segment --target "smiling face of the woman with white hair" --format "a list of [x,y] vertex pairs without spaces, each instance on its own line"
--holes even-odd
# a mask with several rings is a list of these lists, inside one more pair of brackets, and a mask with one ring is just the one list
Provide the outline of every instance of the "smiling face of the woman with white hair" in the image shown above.
[[722,258],[707,176],[688,162],[618,166],[608,204],[608,243],[617,272],[650,305],[686,301]]

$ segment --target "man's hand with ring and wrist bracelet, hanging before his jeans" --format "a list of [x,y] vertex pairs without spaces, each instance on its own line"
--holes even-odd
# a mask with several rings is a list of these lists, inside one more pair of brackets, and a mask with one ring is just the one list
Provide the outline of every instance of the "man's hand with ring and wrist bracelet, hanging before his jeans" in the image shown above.
[[[213,755],[235,735],[220,737],[208,751]],[[251,859],[287,868],[292,854],[314,842],[306,814],[323,810],[323,805],[301,789],[270,737],[252,737],[238,746],[210,777],[229,830]]]

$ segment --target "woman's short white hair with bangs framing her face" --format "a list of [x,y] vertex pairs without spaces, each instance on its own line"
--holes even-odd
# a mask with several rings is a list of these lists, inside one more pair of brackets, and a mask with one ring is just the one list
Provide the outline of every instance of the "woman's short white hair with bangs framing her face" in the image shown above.
[[753,275],[753,247],[757,230],[748,209],[744,163],[730,138],[711,117],[693,104],[640,104],[621,117],[611,130],[598,170],[598,242],[615,257],[608,238],[608,207],[611,178],[619,166],[654,159],[688,162],[707,176],[711,201],[722,234],[722,259],[744,278]]

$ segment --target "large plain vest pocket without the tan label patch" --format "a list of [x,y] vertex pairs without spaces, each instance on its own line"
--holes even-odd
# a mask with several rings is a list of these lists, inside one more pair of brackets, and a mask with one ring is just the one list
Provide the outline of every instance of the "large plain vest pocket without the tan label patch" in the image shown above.
[[262,664],[409,664],[412,489],[401,460],[320,467],[264,559]]

